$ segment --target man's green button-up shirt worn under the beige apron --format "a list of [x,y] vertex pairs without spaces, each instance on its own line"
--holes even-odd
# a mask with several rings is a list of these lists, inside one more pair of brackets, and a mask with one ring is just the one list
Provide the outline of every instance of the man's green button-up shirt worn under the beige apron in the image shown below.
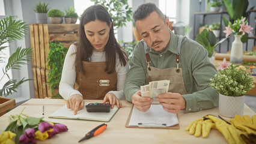
[[[167,49],[156,52],[147,46],[146,51],[150,55],[150,66],[156,68],[177,67],[176,54],[178,35],[169,30],[171,40]],[[208,52],[196,41],[183,37],[180,50],[180,65],[183,69],[183,80],[187,94],[182,95],[186,100],[186,112],[197,112],[203,109],[211,109],[218,106],[218,92],[210,86],[210,78],[217,72],[215,66],[210,63]],[[133,58],[130,70],[124,84],[126,100],[132,101],[132,95],[145,85],[147,62],[144,51],[144,40],[139,41],[133,50]]]

